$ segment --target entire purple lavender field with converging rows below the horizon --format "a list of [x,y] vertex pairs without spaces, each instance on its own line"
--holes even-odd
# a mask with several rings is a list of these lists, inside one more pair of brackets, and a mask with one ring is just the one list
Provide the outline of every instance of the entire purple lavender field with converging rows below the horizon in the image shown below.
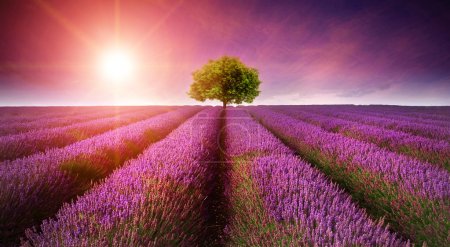
[[0,246],[450,246],[450,107],[0,119]]

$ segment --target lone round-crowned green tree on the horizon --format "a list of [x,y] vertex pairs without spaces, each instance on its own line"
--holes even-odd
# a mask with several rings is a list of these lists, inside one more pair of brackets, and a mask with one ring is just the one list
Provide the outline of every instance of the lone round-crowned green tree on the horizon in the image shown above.
[[258,70],[245,66],[239,58],[223,56],[209,60],[192,73],[189,95],[199,101],[218,99],[227,104],[251,103],[259,95]]

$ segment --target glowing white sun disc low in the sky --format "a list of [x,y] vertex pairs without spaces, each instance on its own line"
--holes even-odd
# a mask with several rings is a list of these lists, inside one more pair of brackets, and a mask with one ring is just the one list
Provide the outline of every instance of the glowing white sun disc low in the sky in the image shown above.
[[100,73],[110,82],[126,83],[134,70],[134,61],[126,50],[114,48],[104,52],[100,58]]

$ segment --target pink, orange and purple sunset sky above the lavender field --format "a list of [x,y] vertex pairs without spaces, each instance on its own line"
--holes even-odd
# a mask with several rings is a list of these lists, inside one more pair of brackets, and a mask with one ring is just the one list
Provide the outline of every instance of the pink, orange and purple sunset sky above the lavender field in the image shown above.
[[[198,104],[192,72],[222,55],[258,69],[253,104],[450,105],[448,6],[2,0],[0,105]],[[99,75],[112,47],[136,65],[126,83]]]

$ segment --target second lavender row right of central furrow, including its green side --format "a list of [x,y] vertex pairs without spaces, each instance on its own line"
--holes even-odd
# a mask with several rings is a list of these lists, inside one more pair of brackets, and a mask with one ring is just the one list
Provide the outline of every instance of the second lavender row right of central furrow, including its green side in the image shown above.
[[396,230],[418,243],[448,245],[446,170],[265,108],[251,108],[251,113],[344,186],[371,214],[385,216]]

